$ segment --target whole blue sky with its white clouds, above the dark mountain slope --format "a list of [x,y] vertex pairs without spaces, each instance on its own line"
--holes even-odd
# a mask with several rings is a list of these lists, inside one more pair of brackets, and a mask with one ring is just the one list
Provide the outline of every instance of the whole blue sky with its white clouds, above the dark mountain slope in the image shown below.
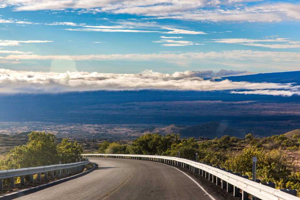
[[[24,82],[53,92],[57,87],[49,85],[55,82],[58,91],[291,89],[291,95],[300,94],[292,85],[222,87],[225,82],[214,81],[300,70],[299,1],[0,0],[0,7],[0,82],[10,85],[0,92],[20,92],[16,85]],[[203,78],[212,79],[207,84]],[[201,86],[192,87],[195,82]]]

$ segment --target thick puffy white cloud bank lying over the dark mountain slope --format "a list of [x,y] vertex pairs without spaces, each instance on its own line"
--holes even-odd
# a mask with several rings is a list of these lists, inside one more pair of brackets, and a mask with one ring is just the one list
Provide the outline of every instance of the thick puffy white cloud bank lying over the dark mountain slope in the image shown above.
[[[249,74],[247,71],[185,71],[164,74],[145,70],[136,74],[89,72],[32,72],[0,69],[0,93],[64,93],[97,90],[195,90],[242,94],[300,95],[300,86],[292,83],[216,81],[215,77]],[[207,79],[208,78],[208,79]],[[242,91],[241,91],[242,90]]]

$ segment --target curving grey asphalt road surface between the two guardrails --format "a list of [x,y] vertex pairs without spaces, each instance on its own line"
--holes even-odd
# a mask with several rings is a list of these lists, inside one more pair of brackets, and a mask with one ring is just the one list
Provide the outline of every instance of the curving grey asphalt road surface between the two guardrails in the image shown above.
[[18,200],[212,200],[187,175],[176,168],[143,160],[90,158],[98,164],[91,173]]

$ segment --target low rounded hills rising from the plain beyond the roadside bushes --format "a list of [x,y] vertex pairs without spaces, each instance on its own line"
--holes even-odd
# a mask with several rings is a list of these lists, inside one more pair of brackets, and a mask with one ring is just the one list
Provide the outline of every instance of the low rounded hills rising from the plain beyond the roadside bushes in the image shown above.
[[139,131],[134,135],[143,135],[146,133],[159,133],[161,135],[179,133],[181,138],[185,138],[185,137],[199,138],[200,136],[202,136],[204,138],[213,139],[215,137],[221,138],[223,135],[235,136],[238,138],[244,137],[244,135],[239,133],[239,131],[237,131],[236,129],[217,121],[212,121],[212,122],[200,124],[197,126],[191,126],[191,127],[172,124],[168,127],[163,127],[163,128],[148,128]]

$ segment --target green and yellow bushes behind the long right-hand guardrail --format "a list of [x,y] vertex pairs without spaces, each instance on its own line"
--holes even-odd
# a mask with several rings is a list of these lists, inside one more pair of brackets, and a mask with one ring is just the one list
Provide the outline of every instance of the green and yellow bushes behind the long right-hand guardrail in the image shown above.
[[[297,189],[300,195],[299,166],[291,154],[299,157],[300,135],[256,138],[251,133],[244,139],[222,136],[213,140],[180,138],[179,135],[148,133],[130,144],[103,142],[98,153],[149,154],[178,156],[217,165],[252,177],[252,157],[257,157],[257,178],[275,182],[277,188]],[[299,196],[298,195],[298,196]]]

